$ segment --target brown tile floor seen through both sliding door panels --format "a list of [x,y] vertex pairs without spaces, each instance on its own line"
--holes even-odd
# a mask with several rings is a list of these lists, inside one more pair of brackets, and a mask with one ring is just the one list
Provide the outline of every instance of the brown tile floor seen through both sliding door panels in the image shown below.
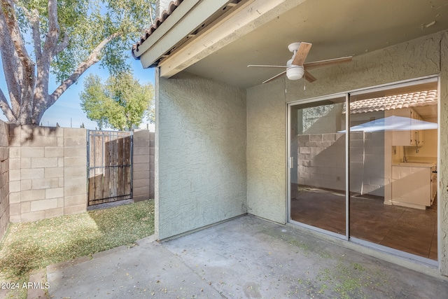
[[[426,210],[384,204],[382,197],[351,197],[350,235],[437,260],[437,200]],[[299,188],[291,199],[293,221],[345,235],[345,196]]]

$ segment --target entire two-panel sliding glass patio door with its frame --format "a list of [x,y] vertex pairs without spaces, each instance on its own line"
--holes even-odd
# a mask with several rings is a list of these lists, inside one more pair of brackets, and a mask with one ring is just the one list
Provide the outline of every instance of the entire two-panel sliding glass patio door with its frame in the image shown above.
[[437,78],[288,105],[289,220],[437,264]]

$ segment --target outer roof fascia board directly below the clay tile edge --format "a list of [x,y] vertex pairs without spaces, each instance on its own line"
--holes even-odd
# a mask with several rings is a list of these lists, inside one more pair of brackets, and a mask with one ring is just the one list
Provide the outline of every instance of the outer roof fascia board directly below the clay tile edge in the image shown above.
[[160,24],[151,36],[135,51],[144,68],[150,67],[176,43],[202,25],[209,15],[221,9],[229,0],[186,0]]

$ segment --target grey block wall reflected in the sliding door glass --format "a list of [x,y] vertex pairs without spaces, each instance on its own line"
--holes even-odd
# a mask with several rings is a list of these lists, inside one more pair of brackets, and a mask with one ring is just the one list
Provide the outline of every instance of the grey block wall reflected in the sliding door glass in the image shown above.
[[[345,134],[298,137],[297,177],[300,185],[345,190]],[[384,196],[384,133],[350,133],[352,192]]]

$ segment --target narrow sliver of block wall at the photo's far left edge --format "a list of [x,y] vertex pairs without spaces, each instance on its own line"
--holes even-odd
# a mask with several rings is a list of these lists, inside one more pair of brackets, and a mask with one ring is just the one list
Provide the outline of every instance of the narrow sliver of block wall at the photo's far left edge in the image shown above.
[[0,239],[9,223],[8,124],[0,120]]

